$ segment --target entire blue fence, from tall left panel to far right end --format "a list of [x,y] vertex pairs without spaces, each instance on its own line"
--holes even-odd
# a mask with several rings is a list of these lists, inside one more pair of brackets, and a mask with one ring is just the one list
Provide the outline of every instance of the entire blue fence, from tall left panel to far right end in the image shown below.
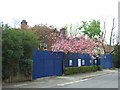
[[[100,55],[100,58],[97,60],[97,63],[95,63],[95,60],[92,60],[91,56],[89,56],[88,54],[64,54],[63,52],[33,50],[32,78],[36,79],[40,77],[62,75],[62,60],[64,55],[65,67],[71,67],[69,65],[69,60],[72,60],[72,67],[78,67],[78,59],[81,59],[81,64],[83,60],[85,61],[85,64],[82,64],[81,66],[101,65],[103,69],[112,68],[111,54]],[[90,60],[92,60],[93,63],[90,63]]]

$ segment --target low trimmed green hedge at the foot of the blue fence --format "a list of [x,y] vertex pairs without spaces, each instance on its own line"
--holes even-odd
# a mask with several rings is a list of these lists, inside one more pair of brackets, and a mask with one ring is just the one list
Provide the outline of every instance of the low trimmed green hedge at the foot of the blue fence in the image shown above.
[[95,72],[102,70],[101,66],[81,66],[81,67],[67,67],[65,68],[65,75],[76,73]]

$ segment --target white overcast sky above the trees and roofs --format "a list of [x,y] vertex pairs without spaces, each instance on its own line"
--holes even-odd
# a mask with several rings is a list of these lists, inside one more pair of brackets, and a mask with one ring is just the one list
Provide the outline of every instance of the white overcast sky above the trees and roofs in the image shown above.
[[[33,26],[48,23],[58,27],[81,20],[106,20],[110,35],[112,18],[118,23],[119,0],[0,0],[0,21],[13,26],[26,19]],[[102,24],[101,24],[102,25]],[[116,29],[117,31],[117,26]]]

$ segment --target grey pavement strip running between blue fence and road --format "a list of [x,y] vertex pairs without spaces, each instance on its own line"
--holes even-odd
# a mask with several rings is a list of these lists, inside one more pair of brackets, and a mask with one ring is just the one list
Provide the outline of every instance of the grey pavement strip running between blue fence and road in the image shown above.
[[86,80],[88,78],[93,78],[96,76],[102,76],[110,73],[118,72],[117,69],[103,69],[102,71],[91,72],[91,73],[81,73],[67,76],[50,76],[44,78],[38,78],[32,81],[18,82],[2,85],[2,88],[51,88],[56,86],[64,86],[67,84],[72,84],[73,82],[79,82],[80,80]]

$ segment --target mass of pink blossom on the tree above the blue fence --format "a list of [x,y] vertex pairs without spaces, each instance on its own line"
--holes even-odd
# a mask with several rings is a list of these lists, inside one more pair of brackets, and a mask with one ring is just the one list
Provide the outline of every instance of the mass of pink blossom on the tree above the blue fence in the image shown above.
[[92,39],[85,39],[84,36],[76,37],[58,37],[52,45],[55,52],[63,51],[65,53],[88,53],[94,54],[95,42]]

